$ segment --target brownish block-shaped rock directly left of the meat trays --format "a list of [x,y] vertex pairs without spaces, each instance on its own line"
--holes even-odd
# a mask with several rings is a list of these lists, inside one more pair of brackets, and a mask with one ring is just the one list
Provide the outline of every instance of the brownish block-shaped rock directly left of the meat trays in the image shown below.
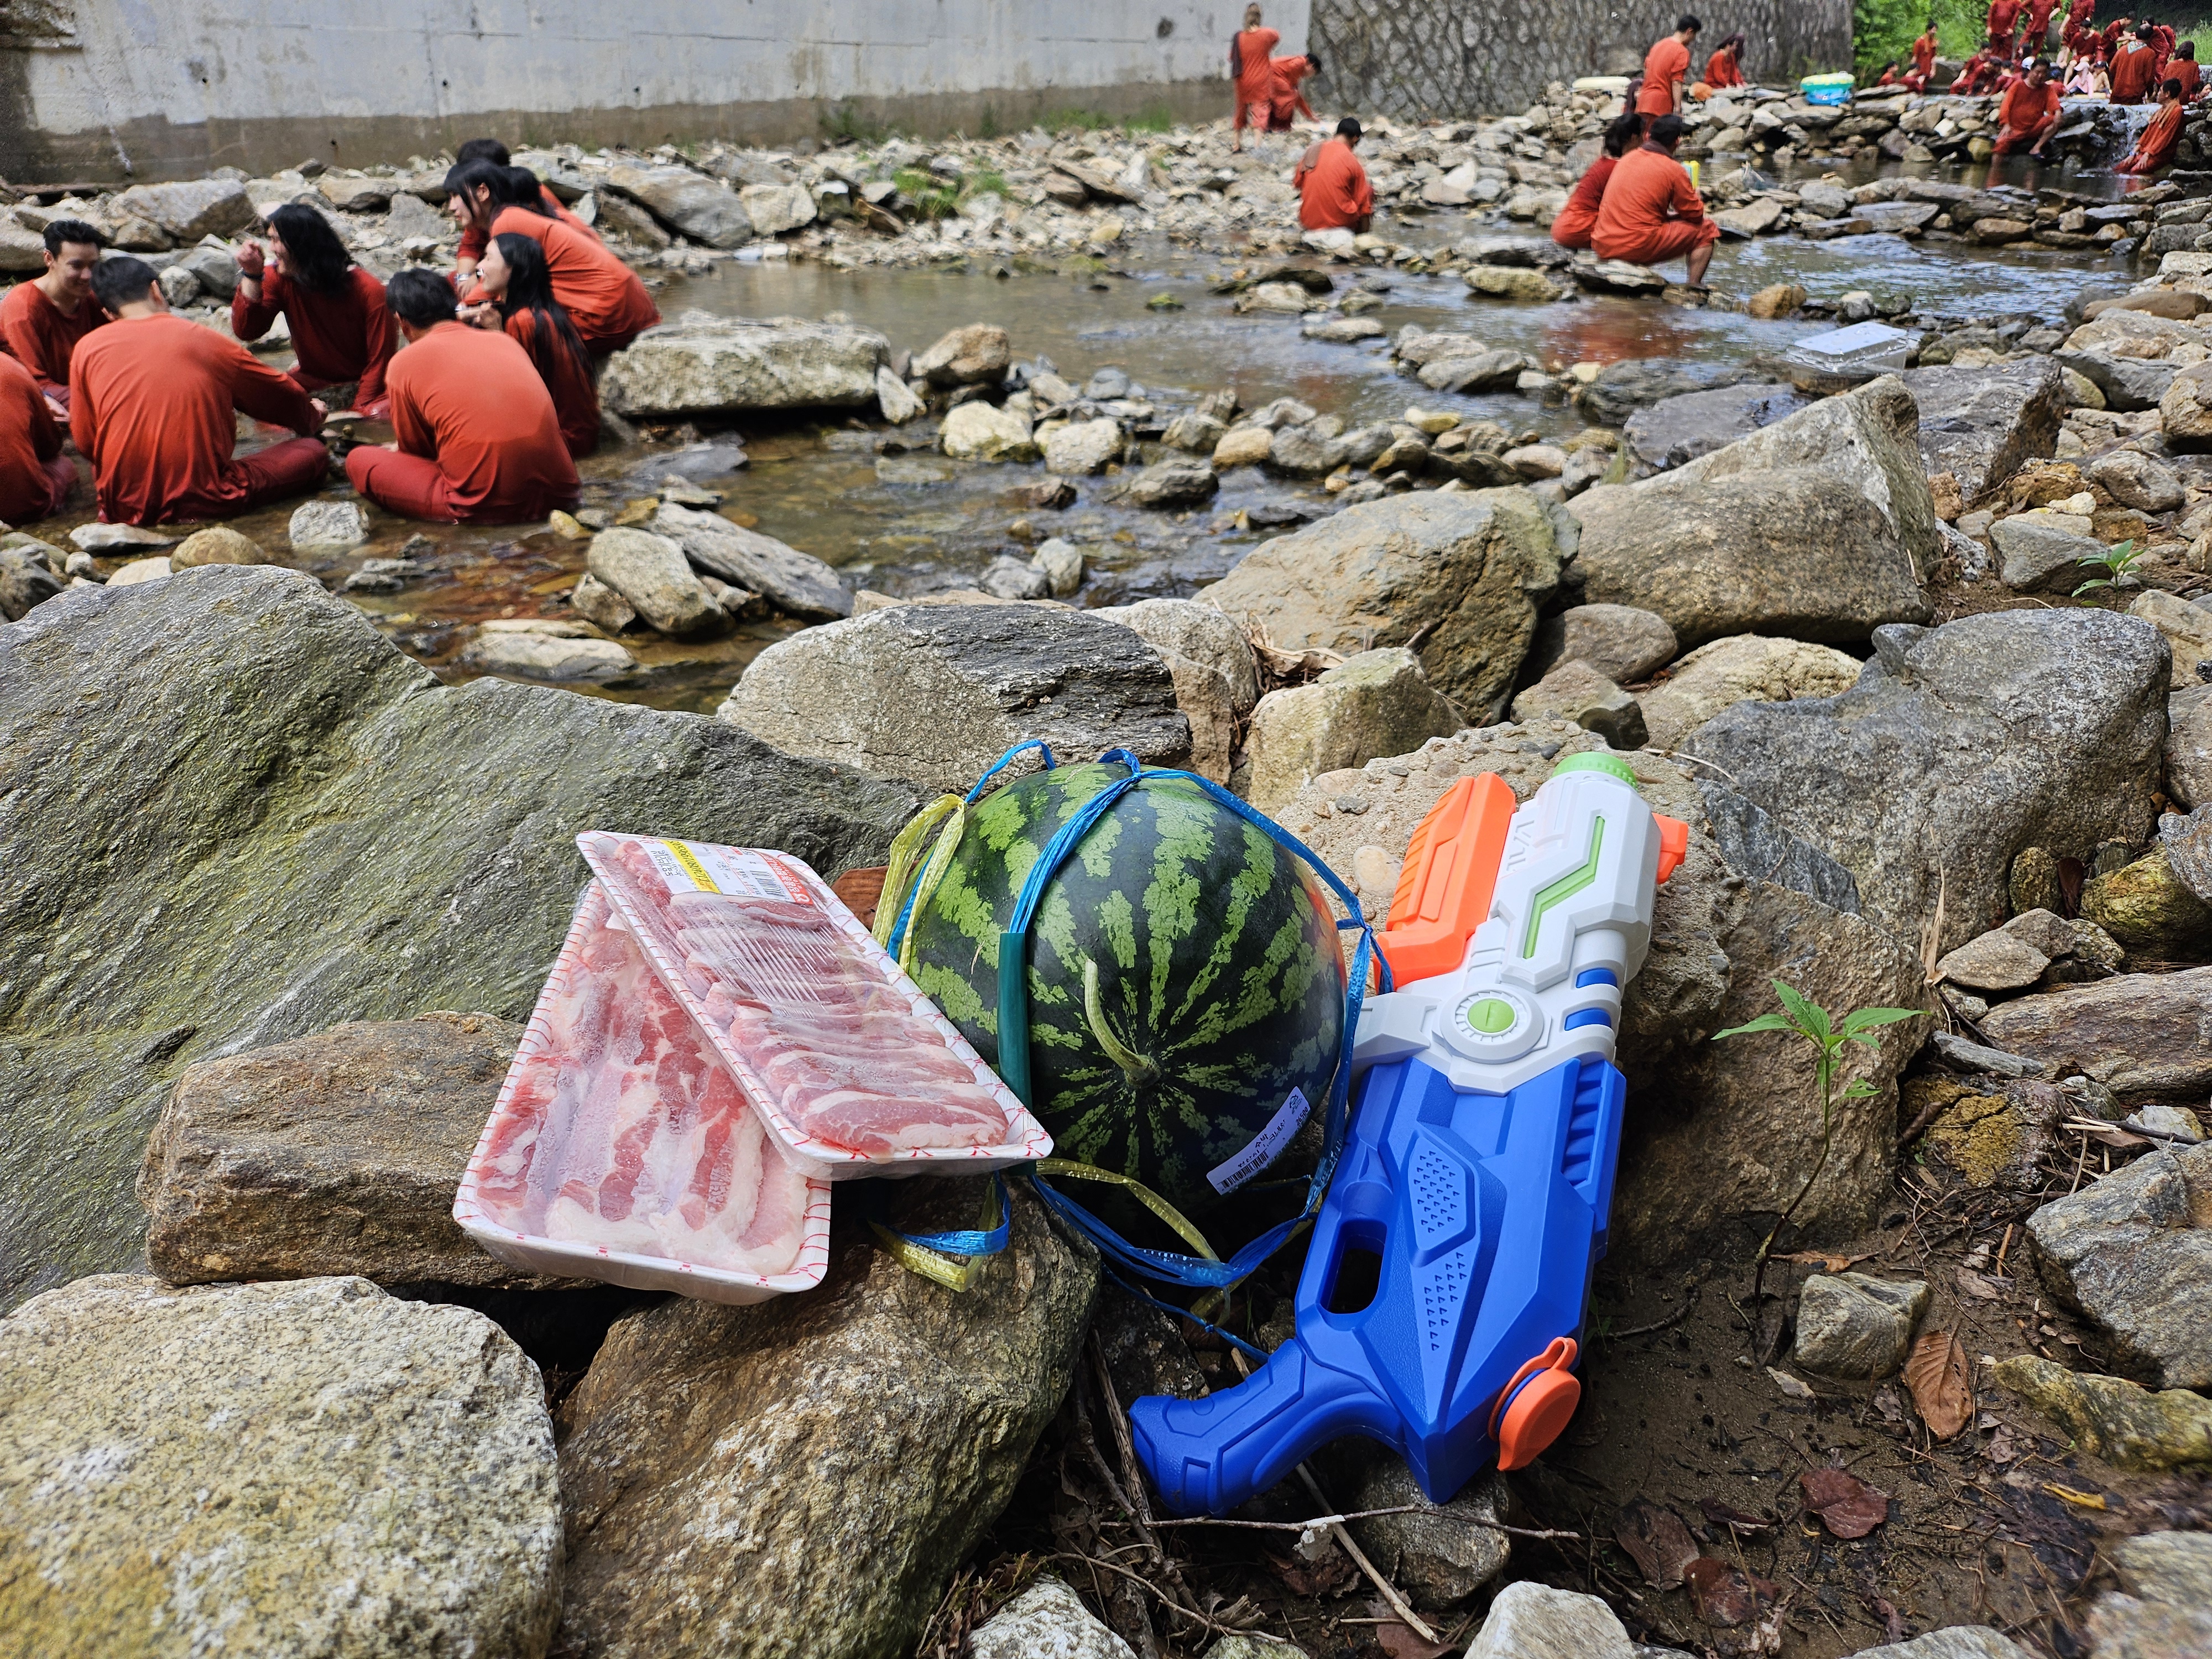
[[173,1285],[542,1283],[453,1221],[520,1040],[489,1013],[425,1013],[188,1066],[139,1170],[153,1270]]

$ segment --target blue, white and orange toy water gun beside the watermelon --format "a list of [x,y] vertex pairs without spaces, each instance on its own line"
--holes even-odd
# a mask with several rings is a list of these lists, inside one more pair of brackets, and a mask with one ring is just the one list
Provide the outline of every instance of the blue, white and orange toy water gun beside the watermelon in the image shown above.
[[1296,1334],[1232,1389],[1130,1407],[1170,1509],[1237,1509],[1345,1433],[1447,1502],[1559,1436],[1621,1144],[1621,989],[1688,845],[1604,752],[1517,810],[1486,772],[1429,812],[1380,938],[1398,989],[1360,1009]]

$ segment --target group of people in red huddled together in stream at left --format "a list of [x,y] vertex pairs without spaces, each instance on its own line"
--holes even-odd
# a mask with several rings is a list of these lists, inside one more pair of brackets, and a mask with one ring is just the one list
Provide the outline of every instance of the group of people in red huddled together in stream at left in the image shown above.
[[[637,274],[495,139],[462,146],[445,179],[462,228],[451,274],[411,265],[380,283],[307,206],[268,217],[237,250],[223,338],[168,310],[157,272],[104,254],[97,228],[46,226],[46,270],[0,299],[0,520],[62,509],[93,467],[100,518],[230,518],[316,489],[330,416],[312,394],[389,420],[345,473],[405,518],[520,524],[577,504],[575,458],[599,440],[599,363],[659,323]],[[243,343],[285,321],[299,365]],[[400,349],[405,343],[407,349]],[[237,416],[294,438],[237,453]]]

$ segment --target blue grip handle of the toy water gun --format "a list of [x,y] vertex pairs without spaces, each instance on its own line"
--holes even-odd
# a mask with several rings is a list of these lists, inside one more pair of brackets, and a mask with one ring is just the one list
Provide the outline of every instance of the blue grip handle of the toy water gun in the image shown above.
[[1292,1336],[1234,1389],[1130,1405],[1137,1455],[1177,1515],[1225,1515],[1347,1433],[1398,1444],[1398,1411]]

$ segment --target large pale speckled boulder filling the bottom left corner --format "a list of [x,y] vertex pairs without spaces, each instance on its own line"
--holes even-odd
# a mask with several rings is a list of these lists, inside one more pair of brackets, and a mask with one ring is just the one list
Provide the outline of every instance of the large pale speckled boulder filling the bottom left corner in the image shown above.
[[538,1367],[363,1279],[102,1274],[0,1321],[0,1648],[544,1655],[562,1517]]

